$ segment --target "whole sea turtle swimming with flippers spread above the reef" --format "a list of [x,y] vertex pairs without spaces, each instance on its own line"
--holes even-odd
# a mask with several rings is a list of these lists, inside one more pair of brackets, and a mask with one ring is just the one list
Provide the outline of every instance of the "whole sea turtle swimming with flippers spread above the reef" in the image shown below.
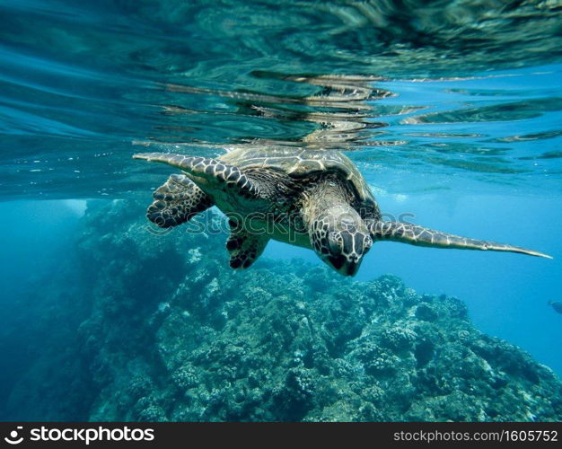
[[241,147],[216,159],[182,154],[133,156],[167,163],[183,174],[154,191],[147,217],[161,227],[187,222],[211,206],[229,217],[226,244],[233,269],[245,269],[274,239],[310,248],[332,269],[353,276],[373,242],[435,248],[512,251],[507,244],[385,221],[364,177],[336,150]]

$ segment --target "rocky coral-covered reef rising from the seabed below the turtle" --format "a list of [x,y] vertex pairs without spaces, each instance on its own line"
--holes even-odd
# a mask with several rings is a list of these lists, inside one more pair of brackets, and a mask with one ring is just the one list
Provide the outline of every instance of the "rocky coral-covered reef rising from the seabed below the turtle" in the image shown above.
[[144,209],[88,208],[64,270],[79,294],[52,293],[43,314],[68,329],[13,390],[14,418],[562,418],[557,376],[476,330],[459,299],[298,261],[233,271],[224,235],[150,233]]

